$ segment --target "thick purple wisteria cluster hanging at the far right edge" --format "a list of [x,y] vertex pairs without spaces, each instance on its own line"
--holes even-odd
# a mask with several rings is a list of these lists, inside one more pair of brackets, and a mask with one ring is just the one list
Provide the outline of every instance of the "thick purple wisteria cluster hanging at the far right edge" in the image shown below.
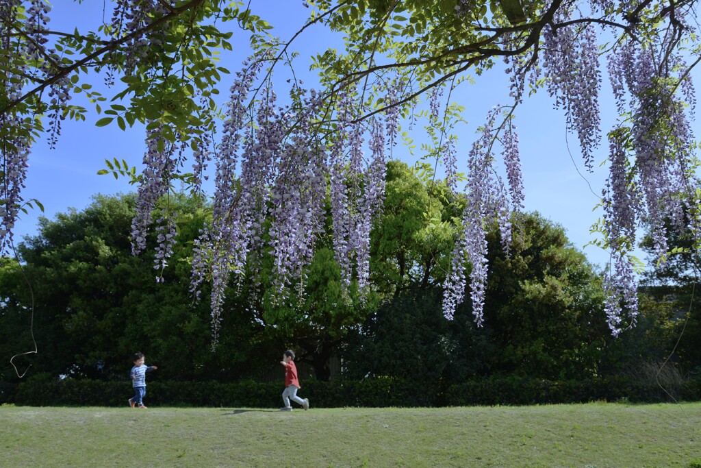
[[615,255],[615,273],[607,278],[606,289],[614,334],[620,331],[621,307],[632,318],[637,314],[637,302],[628,297],[633,281],[626,255],[634,246],[636,227],[648,227],[654,250],[664,259],[665,220],[678,230],[693,225],[686,212],[695,204],[690,188],[699,184],[690,170],[694,142],[685,107],[695,98],[683,60],[669,53],[669,41],[669,36],[644,45],[627,41],[608,60],[616,107],[623,116],[609,133],[611,175],[603,196],[604,228]]

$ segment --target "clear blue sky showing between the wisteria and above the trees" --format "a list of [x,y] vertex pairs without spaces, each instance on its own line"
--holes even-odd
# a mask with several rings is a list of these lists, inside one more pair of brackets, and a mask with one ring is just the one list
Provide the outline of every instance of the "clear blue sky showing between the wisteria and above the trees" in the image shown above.
[[[53,2],[51,29],[72,31],[95,30],[102,19],[102,2],[89,1],[75,4],[71,0]],[[269,8],[274,6],[274,8]],[[259,15],[274,27],[276,35],[283,39],[291,37],[304,25],[308,9],[301,1],[292,0],[253,0],[252,8],[259,9]],[[111,10],[105,16],[111,16]],[[76,18],[78,22],[76,24]],[[235,27],[225,23],[225,27]],[[248,53],[247,37],[236,30],[231,39],[234,51],[222,57],[222,65],[232,72]],[[306,58],[312,53],[333,44],[334,37],[320,27],[303,33],[292,46],[299,51],[295,72],[299,76],[308,74],[306,84],[314,79],[308,70]],[[615,120],[608,79],[602,69],[603,93],[601,97],[602,135],[606,134]],[[101,83],[99,77],[90,76],[91,83]],[[475,139],[475,131],[482,124],[486,113],[498,104],[508,104],[508,79],[498,69],[490,70],[485,76],[475,77],[475,83],[463,83],[452,95],[453,100],[465,107],[468,124],[457,129],[460,138],[458,149],[458,170],[465,170],[467,154]],[[231,76],[224,76],[220,90],[226,98]],[[282,81],[282,80],[281,80]],[[280,90],[283,88],[280,87]],[[281,93],[281,91],[280,91]],[[521,159],[524,174],[525,206],[528,211],[538,211],[545,218],[557,222],[566,229],[570,241],[578,248],[592,240],[590,226],[600,216],[601,211],[592,211],[598,203],[598,195],[606,180],[606,167],[594,167],[593,173],[584,170],[576,135],[568,135],[564,112],[553,109],[552,98],[545,90],[526,99],[517,110],[516,125],[521,140]],[[99,119],[91,112],[86,122],[64,122],[60,140],[55,149],[48,149],[43,140],[37,143],[30,156],[29,173],[25,200],[39,199],[45,208],[45,215],[53,219],[56,213],[68,208],[78,210],[90,203],[90,197],[97,193],[115,194],[128,192],[134,187],[126,179],[115,180],[111,175],[97,175],[104,168],[104,159],[125,159],[131,166],[142,167],[144,154],[144,130],[142,127],[121,131],[116,125],[97,128]],[[417,131],[421,132],[419,128]],[[421,135],[414,135],[421,140]],[[596,154],[597,163],[606,159],[608,145],[602,140]],[[409,163],[416,157],[409,155],[402,147],[397,147],[394,157]],[[213,164],[210,164],[210,170]],[[593,192],[592,192],[593,190]],[[15,229],[15,241],[22,236],[36,233],[37,218],[41,215],[34,210],[22,215]],[[608,254],[600,248],[589,246],[583,250],[589,260],[599,266],[608,262]]]

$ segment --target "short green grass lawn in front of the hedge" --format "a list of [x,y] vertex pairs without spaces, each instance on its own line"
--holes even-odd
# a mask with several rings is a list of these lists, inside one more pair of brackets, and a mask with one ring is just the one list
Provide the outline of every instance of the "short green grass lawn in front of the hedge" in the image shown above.
[[[312,402],[313,403],[313,402]],[[701,403],[0,407],[3,467],[695,467]]]

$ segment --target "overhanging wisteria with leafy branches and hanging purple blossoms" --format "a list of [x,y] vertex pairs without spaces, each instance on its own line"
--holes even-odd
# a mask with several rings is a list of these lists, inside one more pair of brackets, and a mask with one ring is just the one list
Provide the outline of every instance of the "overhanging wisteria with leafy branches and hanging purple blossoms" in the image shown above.
[[[510,211],[522,200],[513,125],[517,106],[526,86],[531,92],[545,88],[564,109],[591,166],[602,131],[599,36],[609,44],[602,50],[618,115],[608,132],[611,177],[602,194],[601,224],[603,242],[613,250],[604,289],[614,335],[637,315],[627,253],[640,220],[652,227],[658,256],[666,250],[665,216],[677,229],[691,225],[699,232],[695,145],[686,109],[695,102],[690,72],[700,61],[695,0],[308,1],[311,19],[300,32],[311,23],[325,25],[343,36],[345,50],[320,51],[313,67],[324,88],[308,91],[293,80],[289,105],[278,104],[271,69],[287,62],[281,59],[290,44],[264,39],[266,22],[226,4],[118,1],[97,32],[56,32],[47,27],[45,2],[0,1],[2,251],[22,208],[20,189],[35,135],[46,130],[53,142],[62,118],[83,118],[82,109],[69,105],[72,94],[102,100],[82,81],[94,69],[106,72],[109,81],[120,79],[116,97],[126,104],[110,104],[98,124],[147,124],[146,167],[132,223],[135,251],[144,247],[154,203],[172,180],[187,179],[197,189],[203,166],[210,158],[217,161],[213,220],[194,255],[196,285],[205,276],[212,281],[215,337],[229,276],[241,279],[247,263],[261,262],[257,244],[268,223],[278,294],[289,295],[290,282],[304,277],[316,239],[324,235],[327,178],[334,255],[344,286],[351,285],[353,273],[363,294],[369,290],[369,230],[381,205],[386,154],[397,142],[400,115],[431,93],[426,110],[440,134],[435,152],[455,188],[454,138],[438,110],[442,87],[451,90],[470,73],[491,73],[504,59],[512,101],[489,113],[464,164],[468,203],[444,298],[450,317],[463,300],[469,260],[472,312],[479,323],[488,288],[487,227],[499,222],[508,248]],[[219,20],[236,20],[252,32],[253,58],[233,80],[222,141],[215,147],[209,136],[216,115],[211,96],[224,70],[217,68],[214,52],[231,47],[230,32]],[[180,172],[186,147],[195,160],[192,178]],[[364,149],[369,157],[363,157]],[[508,183],[491,171],[498,149]],[[170,218],[162,219],[160,227],[173,228]],[[168,250],[169,242],[160,243],[161,249]]]

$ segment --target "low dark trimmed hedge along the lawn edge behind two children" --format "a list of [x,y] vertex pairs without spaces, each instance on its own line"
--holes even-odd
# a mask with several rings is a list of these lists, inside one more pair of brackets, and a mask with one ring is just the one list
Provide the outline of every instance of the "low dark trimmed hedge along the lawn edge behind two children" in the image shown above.
[[[131,382],[34,379],[0,384],[0,403],[21,406],[126,406]],[[316,408],[345,406],[493,406],[587,401],[662,402],[701,399],[701,378],[662,389],[624,378],[551,380],[484,377],[447,389],[421,382],[376,377],[363,380],[302,382],[300,396]],[[151,406],[275,408],[281,406],[278,383],[149,382],[144,400]]]

